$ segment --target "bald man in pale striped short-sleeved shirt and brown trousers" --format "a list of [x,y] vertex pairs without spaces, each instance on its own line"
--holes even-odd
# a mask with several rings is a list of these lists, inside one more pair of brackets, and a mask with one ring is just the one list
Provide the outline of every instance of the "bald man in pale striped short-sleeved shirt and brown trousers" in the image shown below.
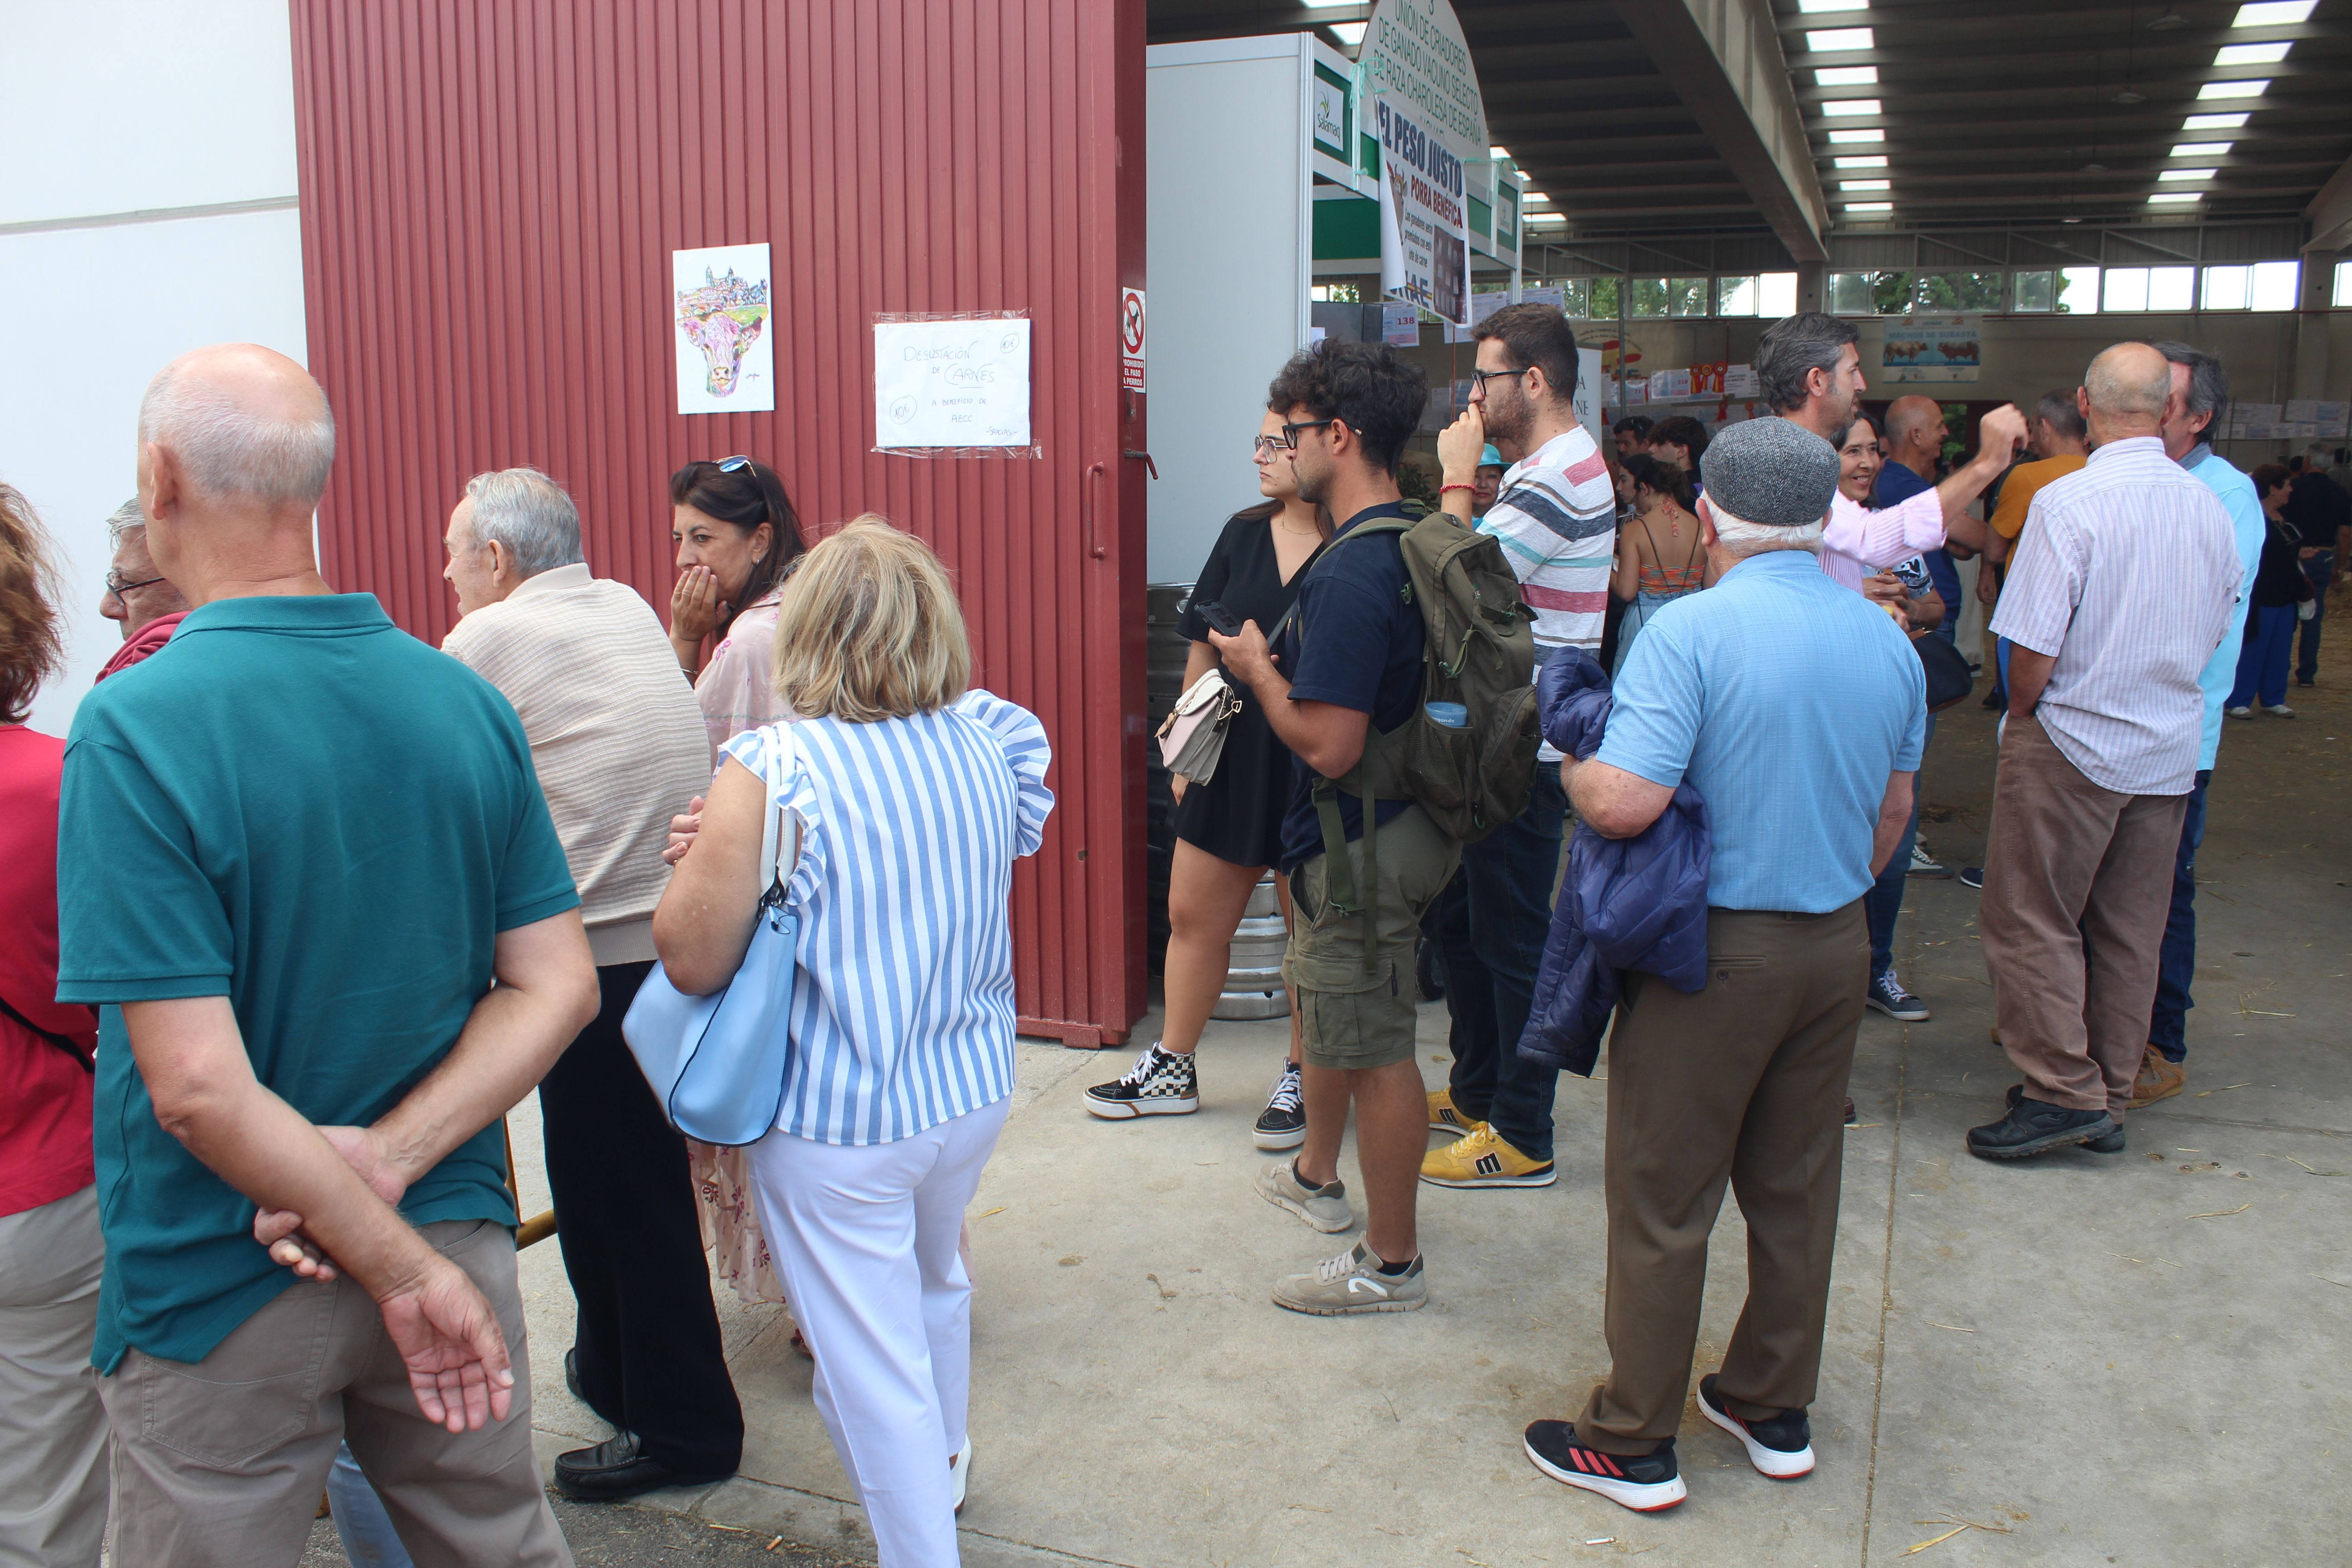
[[1969,1128],[1985,1159],[2124,1147],[2197,790],[2199,675],[2244,578],[2227,508],[2164,454],[2164,355],[2117,343],[2077,397],[2091,461],[2034,496],[1992,616],[2011,649],[1983,936],[2025,1081]]

